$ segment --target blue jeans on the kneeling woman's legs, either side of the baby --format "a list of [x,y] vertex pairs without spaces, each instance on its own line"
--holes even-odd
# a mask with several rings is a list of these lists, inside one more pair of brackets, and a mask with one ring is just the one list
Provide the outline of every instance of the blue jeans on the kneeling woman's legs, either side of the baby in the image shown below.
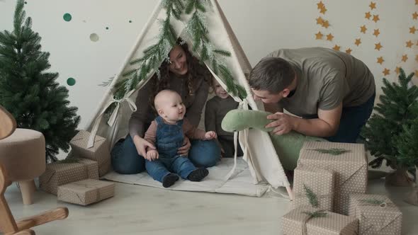
[[[113,170],[120,174],[145,171],[145,159],[138,154],[130,134],[115,144],[111,151]],[[214,140],[192,140],[188,159],[196,167],[215,166],[220,160],[220,148]]]

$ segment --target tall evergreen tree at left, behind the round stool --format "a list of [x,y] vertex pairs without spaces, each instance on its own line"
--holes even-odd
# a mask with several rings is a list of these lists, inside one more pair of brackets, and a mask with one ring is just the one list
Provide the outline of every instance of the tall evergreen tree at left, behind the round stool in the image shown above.
[[40,36],[31,29],[24,1],[17,1],[13,32],[0,32],[0,104],[16,118],[19,128],[42,132],[46,161],[56,161],[59,149],[68,151],[80,117],[69,107],[68,90],[55,81],[48,52],[41,52]]

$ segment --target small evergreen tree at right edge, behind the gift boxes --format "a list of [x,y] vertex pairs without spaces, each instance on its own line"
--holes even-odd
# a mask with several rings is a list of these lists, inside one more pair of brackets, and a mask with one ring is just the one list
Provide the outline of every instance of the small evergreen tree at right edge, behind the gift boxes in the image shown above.
[[413,121],[418,117],[418,88],[409,86],[412,76],[413,73],[406,76],[405,71],[400,69],[399,84],[391,84],[383,79],[383,95],[375,106],[377,113],[372,115],[362,130],[366,146],[375,157],[369,165],[378,168],[385,159],[387,166],[396,169],[395,173],[386,176],[386,182],[392,185],[412,183],[407,176],[407,170],[411,167],[410,157],[400,153],[400,149],[405,148],[400,143],[402,138],[406,138],[404,132],[413,126]]

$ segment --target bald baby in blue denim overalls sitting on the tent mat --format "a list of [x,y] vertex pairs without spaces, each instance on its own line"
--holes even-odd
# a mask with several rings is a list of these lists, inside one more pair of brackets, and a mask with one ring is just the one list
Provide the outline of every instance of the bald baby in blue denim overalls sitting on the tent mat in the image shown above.
[[203,180],[208,176],[208,169],[196,168],[187,156],[179,155],[177,151],[183,145],[184,135],[206,140],[216,138],[216,133],[199,130],[183,119],[186,107],[176,91],[160,91],[155,96],[154,106],[159,116],[151,122],[144,137],[157,148],[147,148],[145,168],[149,176],[162,182],[164,188],[176,183],[179,176],[191,181]]

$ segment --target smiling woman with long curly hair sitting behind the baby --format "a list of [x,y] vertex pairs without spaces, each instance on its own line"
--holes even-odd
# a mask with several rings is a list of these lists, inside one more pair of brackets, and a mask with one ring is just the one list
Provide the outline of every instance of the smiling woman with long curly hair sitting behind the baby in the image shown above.
[[[159,67],[159,76],[152,79],[138,93],[135,104],[137,110],[129,121],[129,134],[123,142],[115,144],[112,150],[112,166],[118,173],[133,174],[145,171],[146,148],[154,145],[143,137],[149,124],[157,114],[154,112],[154,96],[164,89],[176,91],[186,105],[186,118],[195,127],[200,122],[203,106],[208,98],[209,81],[212,77],[205,64],[200,64],[191,55],[188,45],[177,40],[177,45],[169,52],[169,60]],[[185,137],[178,154],[188,156],[195,166],[210,167],[220,159],[220,147],[215,140],[189,140]]]

